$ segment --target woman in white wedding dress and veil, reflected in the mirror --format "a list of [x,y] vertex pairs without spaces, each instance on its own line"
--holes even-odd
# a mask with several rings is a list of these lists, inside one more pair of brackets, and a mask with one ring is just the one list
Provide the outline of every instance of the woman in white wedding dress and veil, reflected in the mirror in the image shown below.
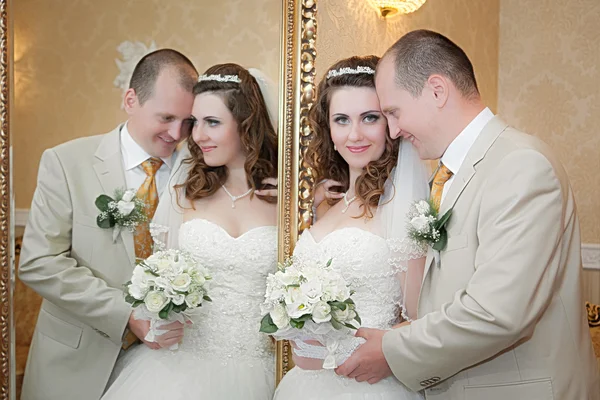
[[259,333],[264,282],[277,265],[276,198],[263,184],[277,174],[270,94],[258,71],[236,64],[199,78],[192,136],[152,235],[159,248],[189,251],[210,270],[212,302],[177,350],[137,346],[121,357],[103,400],[272,399],[274,348]]

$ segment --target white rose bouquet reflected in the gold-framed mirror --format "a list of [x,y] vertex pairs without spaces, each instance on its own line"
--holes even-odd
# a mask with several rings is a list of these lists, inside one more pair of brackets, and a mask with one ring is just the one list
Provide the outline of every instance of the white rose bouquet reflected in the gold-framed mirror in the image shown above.
[[159,251],[138,263],[131,281],[125,284],[125,300],[135,308],[136,319],[150,320],[145,340],[154,341],[161,325],[190,321],[194,309],[211,301],[211,279],[206,268],[180,250]]

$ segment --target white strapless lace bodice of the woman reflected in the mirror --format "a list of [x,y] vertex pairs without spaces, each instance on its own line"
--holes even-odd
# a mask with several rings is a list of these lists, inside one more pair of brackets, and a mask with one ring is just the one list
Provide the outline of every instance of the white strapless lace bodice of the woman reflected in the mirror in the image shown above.
[[185,222],[179,246],[194,254],[211,272],[212,302],[194,316],[179,351],[228,360],[272,360],[273,345],[259,333],[265,281],[277,269],[277,230],[252,229],[238,238],[203,219]]

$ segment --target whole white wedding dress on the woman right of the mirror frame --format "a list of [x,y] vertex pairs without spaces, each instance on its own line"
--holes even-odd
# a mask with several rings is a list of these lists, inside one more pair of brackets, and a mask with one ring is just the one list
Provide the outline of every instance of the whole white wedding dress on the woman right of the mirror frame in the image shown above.
[[[400,246],[408,246],[402,242]],[[394,244],[398,246],[398,244]],[[397,250],[395,250],[397,251]],[[405,248],[404,254],[419,254],[419,249]],[[362,326],[389,329],[399,319],[402,304],[401,284],[397,279],[400,265],[390,257],[390,242],[374,233],[359,228],[342,228],[316,242],[310,231],[305,231],[294,250],[302,263],[326,263],[340,270],[345,280],[356,291],[352,299],[362,319]],[[348,338],[340,343],[336,361],[340,365],[364,343],[362,338]],[[297,355],[323,359],[325,348],[297,343]],[[395,377],[376,384],[357,382],[338,376],[334,370],[303,370],[292,368],[280,382],[276,400],[420,400],[422,395],[407,389]]]

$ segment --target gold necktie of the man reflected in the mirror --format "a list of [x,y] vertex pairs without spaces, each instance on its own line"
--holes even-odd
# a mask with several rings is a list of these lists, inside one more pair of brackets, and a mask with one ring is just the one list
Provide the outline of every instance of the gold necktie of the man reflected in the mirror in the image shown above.
[[149,158],[142,163],[146,173],[146,180],[137,191],[137,197],[146,203],[145,209],[148,221],[141,223],[135,230],[135,256],[137,258],[148,258],[152,255],[152,236],[150,236],[150,220],[154,216],[158,206],[158,190],[156,189],[156,172],[162,166],[160,158]]

